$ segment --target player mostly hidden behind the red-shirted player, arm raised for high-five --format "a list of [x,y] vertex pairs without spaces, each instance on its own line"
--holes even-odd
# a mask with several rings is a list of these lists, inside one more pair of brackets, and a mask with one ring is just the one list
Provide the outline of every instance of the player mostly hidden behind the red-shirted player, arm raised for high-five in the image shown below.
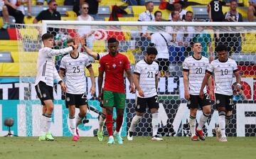
[[[92,50],[87,48],[84,41],[85,40],[81,40],[82,47],[85,49],[85,52],[88,55],[92,56],[95,60],[100,60],[103,56],[107,55],[107,53],[94,53],[94,52],[92,52]],[[102,87],[104,87],[104,83],[102,84]],[[107,113],[106,113],[105,106],[103,106],[103,102],[100,102],[100,106],[102,107],[102,114],[100,114],[99,129],[97,131],[97,139],[98,139],[98,141],[103,141],[103,126],[105,125],[106,114]]]

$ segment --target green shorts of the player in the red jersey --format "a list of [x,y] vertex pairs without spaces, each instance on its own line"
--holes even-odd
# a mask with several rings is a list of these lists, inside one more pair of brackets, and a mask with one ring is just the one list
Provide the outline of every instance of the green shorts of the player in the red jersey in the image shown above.
[[124,109],[125,107],[125,94],[112,92],[112,91],[104,91],[103,92],[103,105],[113,107],[116,106],[117,109]]

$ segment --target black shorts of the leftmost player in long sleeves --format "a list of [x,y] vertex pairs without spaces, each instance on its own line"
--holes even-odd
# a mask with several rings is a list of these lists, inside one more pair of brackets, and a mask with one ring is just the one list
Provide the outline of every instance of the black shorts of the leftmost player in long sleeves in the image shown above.
[[36,94],[38,98],[41,100],[42,105],[46,105],[43,101],[45,100],[53,100],[53,87],[46,85],[45,82],[39,82],[35,86]]

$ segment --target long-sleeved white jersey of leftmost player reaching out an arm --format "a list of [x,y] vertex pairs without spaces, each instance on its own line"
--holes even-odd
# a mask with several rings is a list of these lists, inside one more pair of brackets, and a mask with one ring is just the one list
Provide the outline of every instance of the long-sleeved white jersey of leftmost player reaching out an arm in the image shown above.
[[36,66],[38,72],[36,75],[35,85],[42,81],[45,82],[48,86],[53,87],[53,79],[57,79],[59,82],[61,79],[55,68],[53,56],[70,53],[71,51],[73,51],[71,46],[60,50],[55,50],[48,47],[41,48],[38,52],[38,60]]

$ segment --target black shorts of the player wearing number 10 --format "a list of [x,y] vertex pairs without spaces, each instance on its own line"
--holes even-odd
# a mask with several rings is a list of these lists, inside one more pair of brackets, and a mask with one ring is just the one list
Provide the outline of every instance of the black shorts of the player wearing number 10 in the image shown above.
[[215,100],[217,107],[225,107],[226,111],[232,111],[234,109],[233,95],[223,95],[215,93]]

